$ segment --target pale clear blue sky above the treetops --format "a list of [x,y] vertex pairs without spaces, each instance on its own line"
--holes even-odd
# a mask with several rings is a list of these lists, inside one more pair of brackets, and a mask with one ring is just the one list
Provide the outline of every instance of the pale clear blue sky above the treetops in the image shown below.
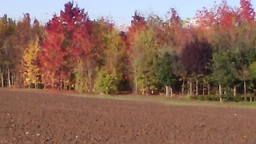
[[[2,1],[2,2],[1,2]],[[170,7],[178,10],[185,18],[193,18],[197,10],[205,6],[214,6],[215,0],[74,0],[80,8],[88,11],[90,18],[112,16],[118,25],[129,24],[134,10],[140,13],[164,16]],[[216,0],[217,3],[222,0]],[[22,14],[30,13],[32,18],[47,22],[54,13],[59,14],[68,0],[0,0],[0,16],[8,14],[11,18],[20,19]],[[227,0],[230,6],[239,6],[239,0]],[[252,0],[254,9],[256,2]]]

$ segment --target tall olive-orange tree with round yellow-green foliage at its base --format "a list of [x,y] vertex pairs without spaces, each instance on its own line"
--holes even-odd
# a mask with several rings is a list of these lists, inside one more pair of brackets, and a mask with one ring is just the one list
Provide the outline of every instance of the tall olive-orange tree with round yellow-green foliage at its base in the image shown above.
[[107,19],[104,21],[102,19],[101,22],[104,22],[101,31],[102,56],[104,58],[102,58],[102,66],[99,66],[101,70],[98,72],[95,86],[98,87],[98,90],[104,90],[106,93],[106,88],[99,89],[99,86],[106,86],[102,83],[110,81],[107,83],[111,83],[113,86],[114,90],[109,89],[113,93],[118,90],[118,83],[125,79],[126,66],[125,63],[120,62],[126,60],[126,43],[122,41],[120,32],[114,27],[113,22]]

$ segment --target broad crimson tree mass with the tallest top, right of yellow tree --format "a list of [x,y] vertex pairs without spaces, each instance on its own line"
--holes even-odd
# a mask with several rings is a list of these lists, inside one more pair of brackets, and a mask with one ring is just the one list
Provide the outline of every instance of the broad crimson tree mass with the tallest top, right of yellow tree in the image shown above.
[[[90,49],[88,30],[90,20],[84,10],[74,6],[73,2],[65,5],[60,16],[54,15],[46,26],[46,39],[42,46],[42,82],[54,86],[71,84],[71,74],[78,58],[86,56]],[[51,81],[51,82],[50,82]]]

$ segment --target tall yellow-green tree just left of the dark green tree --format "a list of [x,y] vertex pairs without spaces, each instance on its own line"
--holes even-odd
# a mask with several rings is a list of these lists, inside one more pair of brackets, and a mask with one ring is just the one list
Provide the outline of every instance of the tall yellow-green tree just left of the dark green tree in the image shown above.
[[132,46],[132,69],[134,75],[134,91],[147,94],[156,89],[157,79],[154,74],[155,55],[158,44],[154,31],[144,29],[134,38]]

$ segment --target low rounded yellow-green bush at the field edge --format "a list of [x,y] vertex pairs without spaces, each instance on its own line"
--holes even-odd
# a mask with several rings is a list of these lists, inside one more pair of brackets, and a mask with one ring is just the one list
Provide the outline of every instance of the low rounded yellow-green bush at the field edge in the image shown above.
[[114,77],[114,74],[109,74],[106,70],[100,70],[94,87],[98,93],[114,94],[118,90],[118,80]]

